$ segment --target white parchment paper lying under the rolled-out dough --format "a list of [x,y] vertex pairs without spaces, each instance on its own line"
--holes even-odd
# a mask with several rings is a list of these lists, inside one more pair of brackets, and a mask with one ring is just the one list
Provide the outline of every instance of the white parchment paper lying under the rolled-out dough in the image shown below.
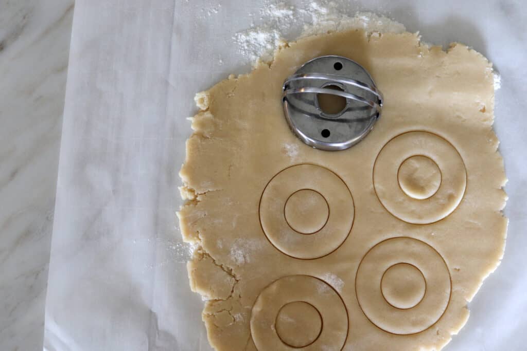
[[[203,303],[188,286],[188,248],[174,215],[190,135],[186,117],[196,111],[194,93],[229,73],[249,71],[232,36],[258,24],[264,5],[76,1],[46,350],[210,350]],[[361,0],[348,6],[387,14],[427,42],[472,45],[500,72],[495,129],[510,179],[506,252],[470,303],[469,322],[445,349],[525,349],[527,6],[477,0]]]

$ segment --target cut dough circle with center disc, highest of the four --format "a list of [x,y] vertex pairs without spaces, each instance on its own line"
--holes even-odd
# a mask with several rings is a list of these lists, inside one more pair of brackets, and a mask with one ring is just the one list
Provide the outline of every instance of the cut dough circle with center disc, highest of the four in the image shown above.
[[[413,172],[416,166],[423,169]],[[460,204],[466,169],[461,155],[444,138],[430,132],[406,132],[391,139],[377,155],[373,184],[389,213],[404,222],[430,224]]]

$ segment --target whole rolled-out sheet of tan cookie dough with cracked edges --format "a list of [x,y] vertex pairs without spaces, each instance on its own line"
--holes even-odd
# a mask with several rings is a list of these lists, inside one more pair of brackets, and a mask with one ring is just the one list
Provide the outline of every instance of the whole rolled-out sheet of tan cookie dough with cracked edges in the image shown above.
[[[359,144],[289,130],[284,80],[345,56],[384,94]],[[199,93],[181,169],[192,290],[217,350],[441,349],[499,265],[507,220],[492,66],[412,33],[330,33]]]

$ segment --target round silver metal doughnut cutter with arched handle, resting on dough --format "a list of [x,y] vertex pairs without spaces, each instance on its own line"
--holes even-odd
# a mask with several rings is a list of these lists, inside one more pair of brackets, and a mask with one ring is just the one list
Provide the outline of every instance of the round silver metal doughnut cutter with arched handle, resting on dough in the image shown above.
[[[383,105],[383,95],[366,69],[341,56],[311,59],[286,79],[282,89],[291,130],[307,145],[327,151],[344,150],[364,139]],[[343,97],[345,107],[326,113],[318,94]]]

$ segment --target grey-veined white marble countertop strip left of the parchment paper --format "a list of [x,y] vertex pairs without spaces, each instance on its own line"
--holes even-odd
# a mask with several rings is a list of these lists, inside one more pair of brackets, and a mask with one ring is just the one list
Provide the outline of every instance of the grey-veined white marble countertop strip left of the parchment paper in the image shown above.
[[0,349],[41,350],[73,0],[0,1]]

